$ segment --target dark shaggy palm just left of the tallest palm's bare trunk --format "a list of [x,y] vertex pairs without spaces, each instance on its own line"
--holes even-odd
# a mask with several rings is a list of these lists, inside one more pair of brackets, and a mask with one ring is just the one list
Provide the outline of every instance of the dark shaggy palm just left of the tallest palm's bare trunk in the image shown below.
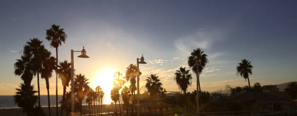
[[50,56],[50,51],[44,50],[42,53],[42,69],[41,69],[41,78],[46,80],[47,90],[48,90],[48,104],[49,104],[49,116],[50,113],[50,101],[49,101],[49,78],[51,77],[51,73],[56,68],[55,67],[55,58]]

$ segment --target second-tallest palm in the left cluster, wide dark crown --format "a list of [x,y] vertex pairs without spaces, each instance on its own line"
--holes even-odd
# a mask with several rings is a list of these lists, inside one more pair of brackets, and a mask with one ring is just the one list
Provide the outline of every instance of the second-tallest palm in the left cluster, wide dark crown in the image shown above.
[[38,87],[38,106],[40,106],[40,89],[39,89],[39,73],[42,68],[42,56],[41,53],[44,50],[42,41],[38,38],[30,39],[24,46],[23,54],[31,56],[31,63],[33,66],[33,75],[37,75],[37,87]]

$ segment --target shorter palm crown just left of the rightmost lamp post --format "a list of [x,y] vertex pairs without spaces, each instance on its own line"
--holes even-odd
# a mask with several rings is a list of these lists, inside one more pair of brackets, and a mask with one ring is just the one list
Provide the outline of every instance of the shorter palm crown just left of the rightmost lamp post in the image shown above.
[[176,70],[174,80],[178,84],[184,95],[186,94],[188,86],[192,84],[192,75],[189,74],[190,70],[186,70],[185,67],[180,67],[180,70]]

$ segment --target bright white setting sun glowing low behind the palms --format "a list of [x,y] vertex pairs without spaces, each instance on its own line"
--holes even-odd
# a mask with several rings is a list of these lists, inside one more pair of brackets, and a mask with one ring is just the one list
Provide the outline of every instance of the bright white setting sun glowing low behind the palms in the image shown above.
[[113,80],[115,70],[114,69],[103,69],[99,71],[97,77],[94,82],[91,82],[92,88],[96,88],[96,86],[100,86],[104,92],[103,103],[110,104],[112,102],[110,98],[110,91],[114,87]]

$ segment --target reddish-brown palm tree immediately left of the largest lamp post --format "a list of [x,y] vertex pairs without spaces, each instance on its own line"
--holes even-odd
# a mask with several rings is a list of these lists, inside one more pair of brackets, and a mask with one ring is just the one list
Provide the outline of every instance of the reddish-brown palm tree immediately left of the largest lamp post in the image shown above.
[[[59,69],[58,69],[58,74],[59,74],[59,78],[62,81],[62,85],[63,85],[63,99],[65,99],[65,95],[66,95],[66,87],[69,85],[70,82],[70,76],[71,76],[71,64],[67,63],[67,61],[65,60],[64,62],[60,62],[59,63]],[[63,104],[63,102],[62,102]],[[61,116],[63,114],[63,110],[64,110],[64,105],[61,105]]]

